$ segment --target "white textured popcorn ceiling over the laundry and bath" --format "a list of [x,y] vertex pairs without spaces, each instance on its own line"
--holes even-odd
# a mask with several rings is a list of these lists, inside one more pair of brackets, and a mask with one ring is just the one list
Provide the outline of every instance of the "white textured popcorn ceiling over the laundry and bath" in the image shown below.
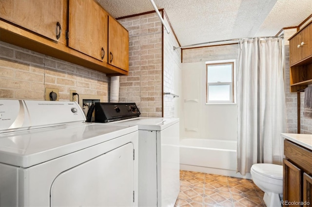
[[[154,0],[181,46],[274,36],[312,14],[312,0]],[[98,0],[115,18],[154,11],[150,0]]]

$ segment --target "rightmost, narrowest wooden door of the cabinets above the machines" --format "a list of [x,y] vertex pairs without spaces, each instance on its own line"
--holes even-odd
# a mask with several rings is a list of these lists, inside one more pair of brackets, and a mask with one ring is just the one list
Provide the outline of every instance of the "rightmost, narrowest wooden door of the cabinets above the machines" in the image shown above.
[[108,63],[129,71],[129,33],[113,17],[108,22]]

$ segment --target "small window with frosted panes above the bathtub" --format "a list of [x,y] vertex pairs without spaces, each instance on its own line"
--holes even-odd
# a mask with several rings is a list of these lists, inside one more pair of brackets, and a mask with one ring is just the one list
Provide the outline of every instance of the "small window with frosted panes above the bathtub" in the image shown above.
[[206,103],[234,103],[234,60],[206,63]]

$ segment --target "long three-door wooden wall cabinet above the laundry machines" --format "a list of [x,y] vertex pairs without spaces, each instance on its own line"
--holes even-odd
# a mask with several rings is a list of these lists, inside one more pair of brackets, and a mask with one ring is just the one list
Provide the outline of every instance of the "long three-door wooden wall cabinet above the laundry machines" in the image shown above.
[[128,36],[95,0],[0,0],[0,41],[107,76],[128,75]]

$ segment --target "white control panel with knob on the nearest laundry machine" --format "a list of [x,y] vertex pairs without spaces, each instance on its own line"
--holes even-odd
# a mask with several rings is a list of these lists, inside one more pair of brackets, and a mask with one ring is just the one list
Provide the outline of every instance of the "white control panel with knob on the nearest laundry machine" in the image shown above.
[[0,133],[85,120],[76,102],[0,100]]

